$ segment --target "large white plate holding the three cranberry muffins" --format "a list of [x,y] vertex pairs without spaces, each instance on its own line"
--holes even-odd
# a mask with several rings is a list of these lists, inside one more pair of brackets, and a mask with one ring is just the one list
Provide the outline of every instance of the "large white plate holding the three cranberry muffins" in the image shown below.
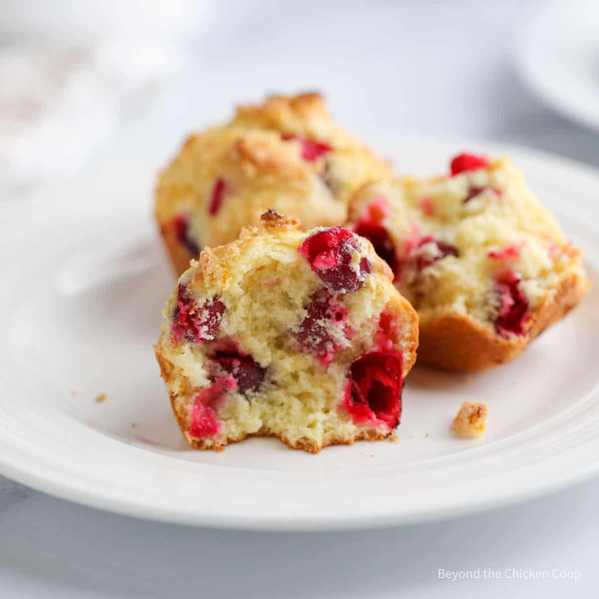
[[[403,170],[426,173],[468,147],[497,150],[416,141],[388,154]],[[513,153],[586,248],[597,279],[599,174]],[[189,449],[152,351],[174,286],[151,217],[153,180],[147,164],[99,170],[47,187],[2,226],[0,472],[145,518],[308,530],[488,509],[597,471],[597,288],[511,364],[474,377],[416,368],[397,443],[317,456],[273,439],[222,453]],[[106,400],[96,403],[102,393]],[[449,434],[464,400],[489,405],[483,440]]]

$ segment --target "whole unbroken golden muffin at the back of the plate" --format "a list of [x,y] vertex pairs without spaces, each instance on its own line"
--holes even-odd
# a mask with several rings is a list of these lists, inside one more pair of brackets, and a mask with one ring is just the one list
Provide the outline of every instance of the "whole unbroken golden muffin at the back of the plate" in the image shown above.
[[159,177],[156,217],[181,274],[202,247],[233,241],[267,208],[306,229],[343,225],[355,190],[389,172],[317,93],[271,96],[187,139]]

